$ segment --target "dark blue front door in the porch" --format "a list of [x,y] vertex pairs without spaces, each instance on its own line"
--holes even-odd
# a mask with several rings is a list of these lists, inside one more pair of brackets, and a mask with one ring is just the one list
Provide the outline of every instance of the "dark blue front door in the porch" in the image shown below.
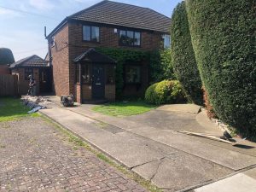
[[105,97],[104,68],[101,65],[92,65],[92,98],[103,99]]

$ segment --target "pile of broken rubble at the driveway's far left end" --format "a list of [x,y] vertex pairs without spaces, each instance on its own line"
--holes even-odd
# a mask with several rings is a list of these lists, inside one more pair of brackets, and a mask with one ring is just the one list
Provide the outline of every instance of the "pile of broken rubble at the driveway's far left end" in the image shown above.
[[40,109],[48,108],[51,103],[43,96],[22,96],[21,101],[31,109],[28,113],[35,113]]

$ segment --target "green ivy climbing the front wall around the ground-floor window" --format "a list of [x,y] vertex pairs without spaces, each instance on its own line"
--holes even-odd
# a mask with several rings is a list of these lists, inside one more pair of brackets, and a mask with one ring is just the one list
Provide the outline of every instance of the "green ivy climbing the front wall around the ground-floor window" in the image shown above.
[[117,99],[122,98],[122,90],[124,87],[123,67],[125,62],[147,61],[149,63],[149,82],[151,84],[163,79],[174,79],[169,49],[142,51],[116,48],[96,48],[96,50],[117,61],[115,72]]

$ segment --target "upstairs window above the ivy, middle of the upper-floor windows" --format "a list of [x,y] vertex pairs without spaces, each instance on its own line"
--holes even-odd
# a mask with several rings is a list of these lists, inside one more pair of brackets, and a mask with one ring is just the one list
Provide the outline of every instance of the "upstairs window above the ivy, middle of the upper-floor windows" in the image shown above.
[[140,46],[141,32],[119,31],[119,44],[125,46]]

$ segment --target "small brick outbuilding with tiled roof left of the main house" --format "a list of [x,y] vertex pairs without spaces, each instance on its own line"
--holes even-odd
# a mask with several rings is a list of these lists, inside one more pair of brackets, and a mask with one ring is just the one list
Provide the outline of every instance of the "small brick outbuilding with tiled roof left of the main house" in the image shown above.
[[29,88],[29,75],[37,82],[37,93],[49,93],[52,85],[52,72],[49,62],[38,55],[31,55],[11,64],[9,69],[18,76],[18,92],[25,95]]

